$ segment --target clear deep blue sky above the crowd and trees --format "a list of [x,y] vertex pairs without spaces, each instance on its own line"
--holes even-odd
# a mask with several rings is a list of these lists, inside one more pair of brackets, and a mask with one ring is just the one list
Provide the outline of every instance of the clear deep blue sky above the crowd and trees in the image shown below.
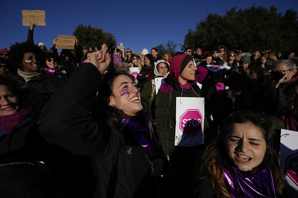
[[[187,30],[195,30],[197,23],[209,13],[224,15],[226,10],[234,6],[238,10],[250,8],[254,4],[255,7],[268,8],[274,5],[283,14],[287,9],[298,10],[297,0],[0,0],[0,49],[26,41],[29,26],[22,26],[21,10],[45,10],[46,26],[35,27],[35,44],[42,42],[50,48],[58,34],[73,35],[79,24],[90,24],[114,33],[117,45],[122,42],[125,48],[140,52],[143,48],[150,51],[168,40],[183,44]],[[177,50],[180,50],[180,46]]]

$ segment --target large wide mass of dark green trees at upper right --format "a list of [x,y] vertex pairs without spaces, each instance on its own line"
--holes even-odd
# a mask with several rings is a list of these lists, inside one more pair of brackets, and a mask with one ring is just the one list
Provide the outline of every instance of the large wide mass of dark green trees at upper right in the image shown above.
[[225,45],[227,51],[241,49],[254,52],[256,49],[271,48],[274,51],[298,49],[297,11],[287,10],[284,15],[277,13],[277,7],[254,7],[238,10],[236,7],[221,16],[208,14],[197,24],[196,30],[188,30],[181,48],[202,47],[218,50]]

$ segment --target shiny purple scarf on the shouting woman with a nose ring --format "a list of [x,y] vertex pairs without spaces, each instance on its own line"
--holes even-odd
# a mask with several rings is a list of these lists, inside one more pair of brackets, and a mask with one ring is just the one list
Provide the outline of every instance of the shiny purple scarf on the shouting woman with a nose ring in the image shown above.
[[224,181],[232,197],[276,197],[272,174],[264,164],[261,163],[252,171],[240,171],[227,162],[225,168]]

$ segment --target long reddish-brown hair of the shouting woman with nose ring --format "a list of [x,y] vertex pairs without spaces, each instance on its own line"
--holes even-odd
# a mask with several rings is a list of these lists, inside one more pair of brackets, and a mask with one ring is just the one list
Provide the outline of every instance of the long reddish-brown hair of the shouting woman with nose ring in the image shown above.
[[228,171],[224,168],[223,164],[225,164],[225,160],[229,158],[226,153],[225,137],[226,134],[231,130],[233,123],[251,123],[263,133],[264,139],[266,140],[266,145],[268,146],[263,158],[263,163],[272,172],[274,188],[277,195],[279,194],[282,196],[282,191],[285,187],[285,181],[283,172],[279,165],[279,154],[272,149],[272,124],[270,121],[263,119],[263,117],[260,115],[248,111],[234,112],[224,120],[220,136],[218,136],[218,138],[206,148],[204,155],[200,159],[201,166],[199,167],[201,168],[196,170],[196,178],[211,178],[212,187],[215,187],[218,198],[231,197],[231,194],[229,191],[227,191],[224,182],[223,173]]

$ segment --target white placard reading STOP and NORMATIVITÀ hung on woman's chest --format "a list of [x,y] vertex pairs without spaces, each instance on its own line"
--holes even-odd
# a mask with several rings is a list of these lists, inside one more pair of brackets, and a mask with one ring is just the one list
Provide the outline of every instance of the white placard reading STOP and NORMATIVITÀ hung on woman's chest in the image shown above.
[[175,146],[204,144],[204,98],[176,98]]

